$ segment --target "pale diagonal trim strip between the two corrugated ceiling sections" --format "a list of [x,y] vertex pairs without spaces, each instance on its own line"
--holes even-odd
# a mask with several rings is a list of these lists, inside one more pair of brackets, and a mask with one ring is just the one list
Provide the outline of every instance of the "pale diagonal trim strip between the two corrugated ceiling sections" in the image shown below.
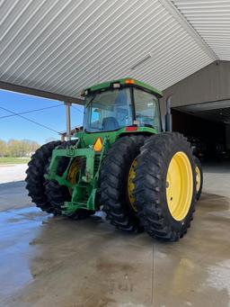
[[173,15],[173,17],[181,24],[181,26],[190,34],[190,36],[199,44],[199,47],[205,51],[210,59],[218,60],[217,54],[208,46],[208,43],[204,41],[198,32],[192,27],[188,20],[184,17],[179,9],[173,5],[171,0],[158,0],[165,9]]

